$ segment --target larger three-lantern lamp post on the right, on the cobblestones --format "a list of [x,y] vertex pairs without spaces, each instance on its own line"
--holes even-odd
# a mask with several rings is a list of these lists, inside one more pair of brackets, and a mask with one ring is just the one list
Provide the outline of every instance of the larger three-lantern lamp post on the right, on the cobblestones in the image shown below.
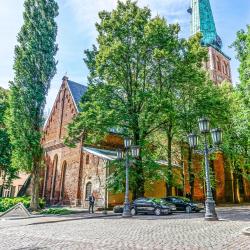
[[[195,150],[196,153],[204,155],[205,159],[205,175],[206,175],[206,213],[205,220],[218,220],[216,211],[215,211],[215,202],[213,199],[213,194],[211,190],[210,182],[210,168],[208,156],[211,153],[214,153],[218,146],[222,143],[222,131],[221,129],[212,129],[210,131],[210,124],[207,118],[199,119],[199,129],[201,134],[204,135],[204,148],[203,150]],[[214,147],[208,148],[208,134],[211,132],[212,141]],[[198,146],[198,136],[194,133],[188,135],[188,142],[191,148],[196,149]]]

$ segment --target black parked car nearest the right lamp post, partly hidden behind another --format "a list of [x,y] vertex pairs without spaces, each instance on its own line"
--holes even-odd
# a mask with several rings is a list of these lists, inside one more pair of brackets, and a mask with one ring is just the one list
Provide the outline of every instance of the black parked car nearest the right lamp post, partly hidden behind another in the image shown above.
[[192,211],[199,212],[204,209],[204,204],[193,202],[186,197],[169,196],[163,199],[167,202],[173,203],[176,206],[177,211],[186,211],[187,213],[191,213]]

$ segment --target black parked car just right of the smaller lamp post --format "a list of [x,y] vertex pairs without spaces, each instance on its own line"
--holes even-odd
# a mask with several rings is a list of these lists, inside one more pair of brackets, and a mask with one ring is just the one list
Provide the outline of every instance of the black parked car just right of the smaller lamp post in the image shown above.
[[131,204],[131,214],[171,214],[176,210],[175,205],[156,198],[138,198]]

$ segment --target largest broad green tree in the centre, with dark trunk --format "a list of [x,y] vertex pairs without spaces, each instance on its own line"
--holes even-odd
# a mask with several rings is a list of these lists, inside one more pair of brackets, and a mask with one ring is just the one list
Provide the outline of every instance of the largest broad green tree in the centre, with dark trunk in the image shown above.
[[119,1],[115,10],[103,11],[99,17],[98,48],[85,52],[89,87],[82,100],[82,112],[69,126],[68,142],[86,133],[85,142],[94,143],[112,128],[130,136],[142,149],[131,175],[134,196],[141,196],[145,176],[150,176],[149,165],[144,162],[149,162],[147,138],[166,122],[159,112],[164,82],[156,76],[161,51],[154,34],[167,42],[164,53],[171,57],[178,46],[179,27],[167,25],[160,17],[152,19],[148,8],[139,8],[132,1]]

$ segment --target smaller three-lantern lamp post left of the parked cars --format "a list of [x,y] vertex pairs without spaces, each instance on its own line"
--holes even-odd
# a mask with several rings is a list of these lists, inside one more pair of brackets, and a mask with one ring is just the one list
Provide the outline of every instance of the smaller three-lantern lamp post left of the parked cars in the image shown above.
[[117,159],[122,160],[125,153],[125,169],[126,169],[126,190],[125,190],[125,201],[122,217],[128,218],[131,217],[130,212],[130,202],[129,202],[129,154],[131,153],[132,157],[138,157],[140,154],[139,146],[132,146],[132,140],[129,138],[124,139],[124,148],[125,152],[121,149],[117,150]]

